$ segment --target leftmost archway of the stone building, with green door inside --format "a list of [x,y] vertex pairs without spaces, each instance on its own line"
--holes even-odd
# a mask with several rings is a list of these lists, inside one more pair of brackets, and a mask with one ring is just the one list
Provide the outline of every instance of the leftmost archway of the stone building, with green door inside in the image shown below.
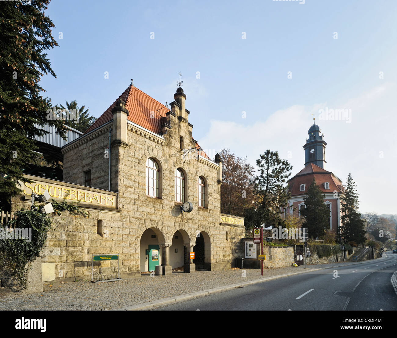
[[155,270],[157,265],[161,265],[160,244],[164,242],[164,235],[157,228],[149,228],[143,232],[139,251],[141,272]]

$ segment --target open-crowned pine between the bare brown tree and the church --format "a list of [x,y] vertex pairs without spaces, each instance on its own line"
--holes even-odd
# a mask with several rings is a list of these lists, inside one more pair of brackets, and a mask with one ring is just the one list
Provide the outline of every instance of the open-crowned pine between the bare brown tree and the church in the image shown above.
[[287,205],[290,193],[285,188],[292,166],[285,159],[280,159],[278,152],[266,150],[256,160],[260,173],[254,180],[254,195],[260,201],[255,212],[257,220],[266,227],[277,227],[282,223],[280,207]]

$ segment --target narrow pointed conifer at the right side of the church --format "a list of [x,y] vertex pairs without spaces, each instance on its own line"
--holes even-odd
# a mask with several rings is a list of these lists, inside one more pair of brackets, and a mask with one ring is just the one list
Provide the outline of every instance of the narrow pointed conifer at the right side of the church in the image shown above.
[[347,177],[345,197],[341,198],[340,236],[344,242],[361,243],[365,241],[365,221],[358,210],[358,193],[351,173]]

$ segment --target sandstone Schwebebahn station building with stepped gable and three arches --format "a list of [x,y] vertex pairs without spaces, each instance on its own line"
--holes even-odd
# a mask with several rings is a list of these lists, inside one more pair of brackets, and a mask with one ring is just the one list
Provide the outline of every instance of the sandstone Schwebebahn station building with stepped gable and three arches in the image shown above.
[[[32,190],[47,189],[55,200],[80,201],[91,214],[54,217],[42,253],[46,274],[89,276],[93,254],[116,253],[122,277],[234,266],[244,219],[220,213],[222,159],[210,159],[192,137],[185,99],[179,87],[164,105],[131,82],[62,148],[62,182],[30,177],[35,183],[24,187],[25,204]],[[111,272],[117,265],[102,262],[101,269]]]

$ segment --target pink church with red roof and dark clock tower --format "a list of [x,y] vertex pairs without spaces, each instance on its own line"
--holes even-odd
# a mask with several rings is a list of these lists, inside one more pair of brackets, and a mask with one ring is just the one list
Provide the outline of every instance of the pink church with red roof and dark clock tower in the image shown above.
[[[330,208],[330,230],[339,233],[341,225],[341,198],[345,197],[345,187],[342,181],[331,171],[325,169],[326,142],[320,135],[320,127],[313,123],[308,130],[309,137],[304,144],[304,168],[294,177],[289,179],[289,192],[291,198],[288,207],[284,209],[284,215],[300,215],[305,207],[303,198],[313,179],[316,180],[320,190],[324,193],[324,203]],[[310,234],[309,234],[310,235]]]

